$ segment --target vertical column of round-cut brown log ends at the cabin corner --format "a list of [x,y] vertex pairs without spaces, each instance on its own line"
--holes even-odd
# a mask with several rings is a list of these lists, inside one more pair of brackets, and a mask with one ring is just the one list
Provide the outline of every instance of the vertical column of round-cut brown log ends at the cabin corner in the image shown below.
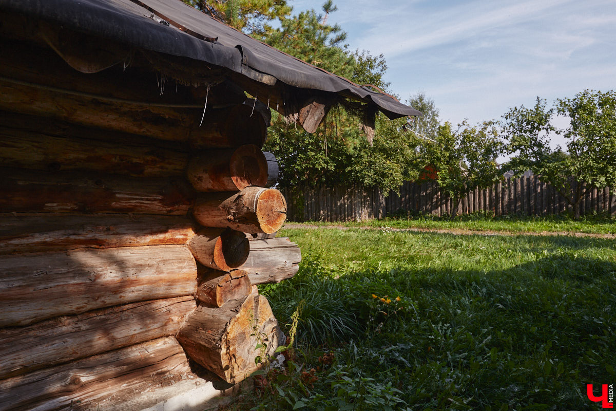
[[260,367],[255,359],[265,361],[281,338],[267,299],[251,288],[246,271],[232,270],[250,258],[248,237],[275,233],[286,219],[285,198],[265,188],[271,162],[254,145],[201,153],[188,162],[188,181],[200,192],[193,216],[203,226],[189,247],[211,270],[201,275],[200,304],[177,338],[191,359],[229,383]]

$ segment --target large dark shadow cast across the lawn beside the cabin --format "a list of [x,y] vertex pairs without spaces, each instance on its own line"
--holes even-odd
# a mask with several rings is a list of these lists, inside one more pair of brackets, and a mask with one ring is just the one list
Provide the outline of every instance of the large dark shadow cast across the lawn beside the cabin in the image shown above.
[[[488,272],[337,279],[323,269],[304,261],[293,280],[267,288],[281,324],[303,300],[303,349],[334,349],[338,367],[391,381],[413,409],[586,409],[586,384],[616,376],[615,262],[561,253]],[[404,308],[373,294],[399,296]]]

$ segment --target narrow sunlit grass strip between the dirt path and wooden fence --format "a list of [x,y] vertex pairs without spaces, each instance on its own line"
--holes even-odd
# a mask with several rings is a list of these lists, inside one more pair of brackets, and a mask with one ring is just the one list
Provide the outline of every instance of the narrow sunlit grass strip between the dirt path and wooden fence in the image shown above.
[[565,216],[521,217],[485,215],[463,215],[454,219],[436,216],[417,216],[411,218],[384,218],[361,222],[306,222],[319,226],[345,227],[392,227],[396,229],[434,229],[434,230],[476,230],[506,231],[512,233],[528,232],[582,232],[589,234],[616,234],[616,219],[604,216],[586,216],[574,220]]

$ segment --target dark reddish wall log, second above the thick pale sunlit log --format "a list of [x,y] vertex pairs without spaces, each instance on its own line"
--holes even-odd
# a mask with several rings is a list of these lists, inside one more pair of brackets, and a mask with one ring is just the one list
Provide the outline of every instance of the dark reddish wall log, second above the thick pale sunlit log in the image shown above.
[[57,173],[0,168],[1,213],[184,215],[193,190],[185,179]]

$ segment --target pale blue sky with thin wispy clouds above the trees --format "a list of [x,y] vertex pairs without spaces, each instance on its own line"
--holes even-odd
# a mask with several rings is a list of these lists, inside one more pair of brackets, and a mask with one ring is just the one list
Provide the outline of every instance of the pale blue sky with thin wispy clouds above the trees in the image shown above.
[[[291,0],[294,12],[324,0]],[[402,100],[431,97],[442,121],[616,89],[616,0],[334,0],[351,49],[383,54]],[[565,119],[557,120],[566,124]],[[556,141],[557,143],[559,141]]]

